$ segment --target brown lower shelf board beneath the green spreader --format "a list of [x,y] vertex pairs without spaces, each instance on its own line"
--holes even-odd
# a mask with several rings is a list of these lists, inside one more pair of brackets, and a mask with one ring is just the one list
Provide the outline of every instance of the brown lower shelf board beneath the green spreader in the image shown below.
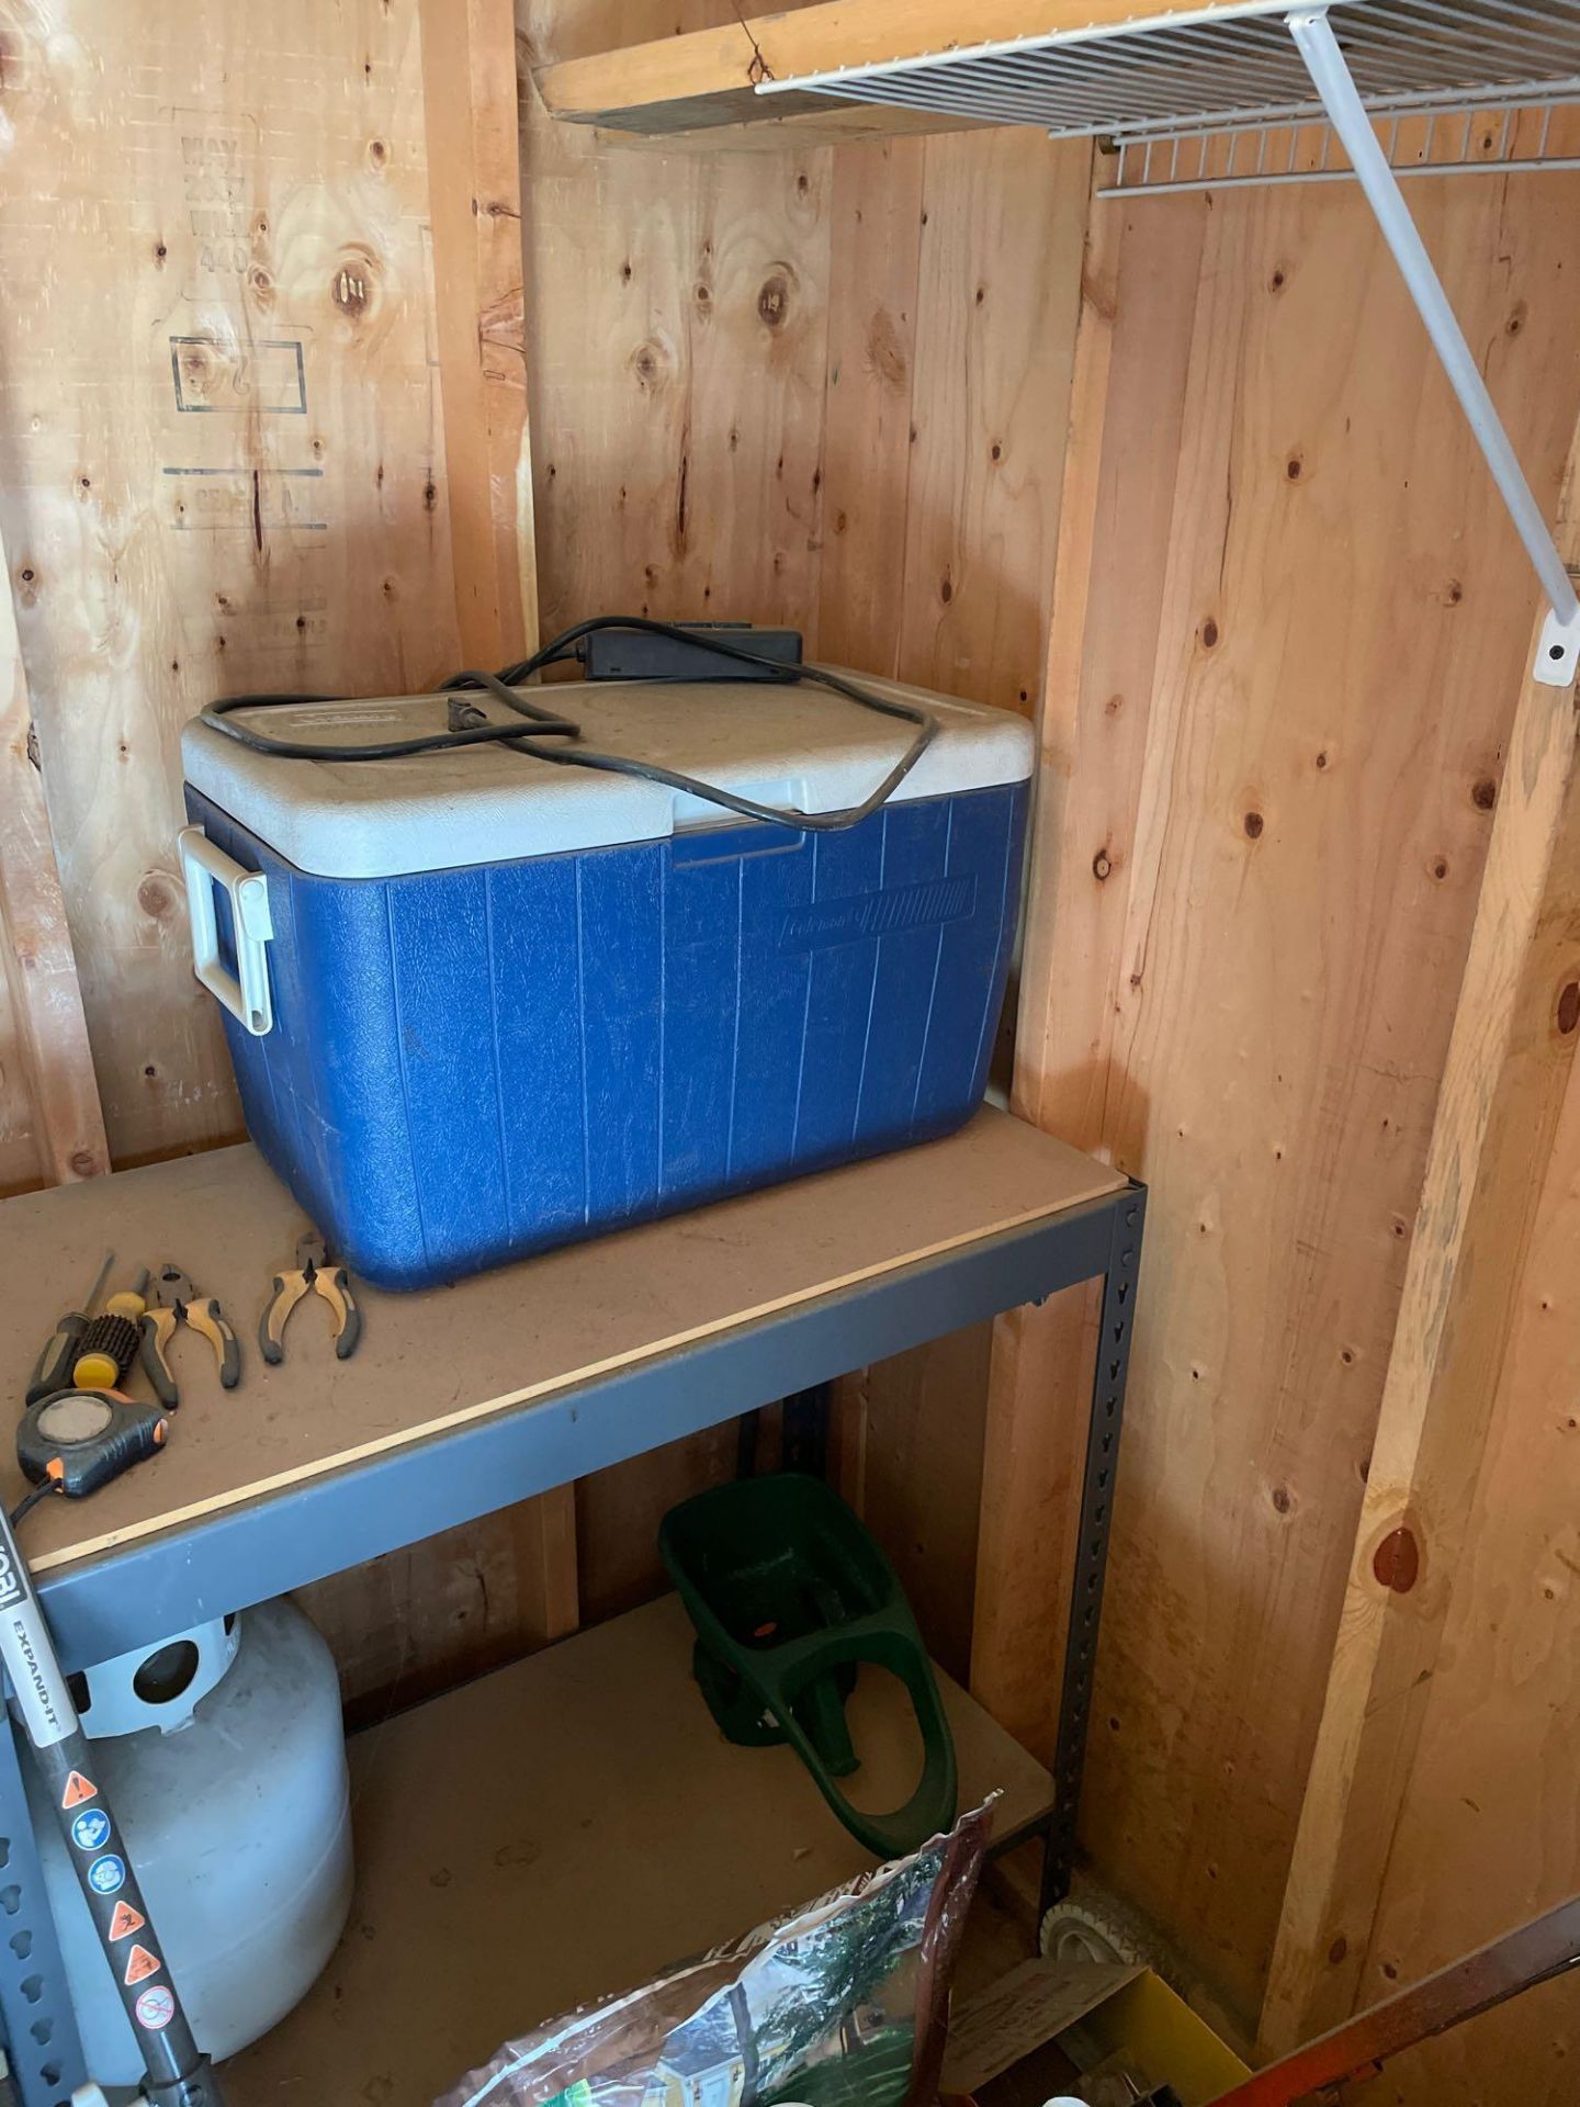
[[[1049,1774],[940,1675],[961,1806],[1047,1816]],[[921,1742],[864,1669],[849,1719],[868,1808]],[[788,1749],[735,1749],[691,1679],[670,1595],[352,1742],[356,1898],[308,2000],[225,2065],[230,2107],[430,2107],[514,2033],[630,1989],[874,1860]]]

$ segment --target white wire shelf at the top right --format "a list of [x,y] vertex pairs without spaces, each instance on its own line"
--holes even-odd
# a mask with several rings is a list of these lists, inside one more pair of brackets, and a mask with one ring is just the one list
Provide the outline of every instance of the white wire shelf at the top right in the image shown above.
[[[1186,126],[1321,118],[1285,17],[1291,0],[1138,13],[1001,44],[761,80],[1055,137],[1138,139]],[[1367,110],[1580,99],[1580,0],[1329,0]]]

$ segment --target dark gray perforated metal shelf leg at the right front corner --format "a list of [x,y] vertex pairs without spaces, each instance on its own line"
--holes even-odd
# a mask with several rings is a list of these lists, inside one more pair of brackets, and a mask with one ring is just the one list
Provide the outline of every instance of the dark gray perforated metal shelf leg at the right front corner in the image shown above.
[[1043,1911],[1064,1901],[1074,1873],[1074,1825],[1081,1812],[1081,1772],[1091,1719],[1091,1679],[1098,1667],[1102,1584],[1108,1570],[1108,1530],[1114,1513],[1119,1429],[1125,1418],[1125,1376],[1135,1327],[1135,1279],[1142,1271],[1146,1186],[1133,1184],[1114,1205],[1114,1239],[1102,1283],[1102,1332],[1091,1376],[1091,1431],[1087,1475],[1081,1490],[1081,1532],[1074,1547],[1070,1635],[1064,1648],[1060,1738],[1053,1755],[1053,1818],[1043,1854]]

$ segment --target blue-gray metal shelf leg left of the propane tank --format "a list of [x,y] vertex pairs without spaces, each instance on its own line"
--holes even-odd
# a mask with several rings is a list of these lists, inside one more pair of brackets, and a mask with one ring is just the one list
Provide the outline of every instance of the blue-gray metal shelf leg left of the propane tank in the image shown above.
[[0,1715],[0,2027],[21,2107],[70,2107],[88,2082],[44,1871],[38,1863],[17,1734]]

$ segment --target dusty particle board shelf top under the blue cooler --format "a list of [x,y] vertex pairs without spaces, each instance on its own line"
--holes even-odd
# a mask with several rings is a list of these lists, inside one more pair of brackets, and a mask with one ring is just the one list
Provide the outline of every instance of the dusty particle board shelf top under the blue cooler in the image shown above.
[[[21,1405],[32,1359],[105,1249],[114,1283],[139,1264],[181,1266],[219,1298],[242,1340],[242,1382],[221,1391],[206,1344],[177,1334],[181,1410],[171,1443],[91,1500],[27,1517],[36,1572],[70,1566],[348,1464],[432,1441],[495,1414],[676,1353],[773,1313],[878,1279],[1100,1199],[1123,1178],[1074,1148],[984,1110],[961,1134],[822,1171],[541,1258],[394,1296],[356,1283],[364,1332],[335,1361],[316,1298],[293,1319],[282,1367],[257,1351],[257,1313],[291,1262],[301,1209],[255,1148],[158,1163],[0,1205],[0,1266],[25,1323],[0,1344]],[[133,1376],[131,1389],[145,1389]],[[4,1498],[23,1479],[4,1466]]]

